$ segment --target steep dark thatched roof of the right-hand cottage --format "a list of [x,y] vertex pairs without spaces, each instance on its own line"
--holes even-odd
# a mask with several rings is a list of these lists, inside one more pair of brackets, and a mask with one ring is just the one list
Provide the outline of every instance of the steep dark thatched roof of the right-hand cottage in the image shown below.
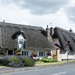
[[56,27],[53,38],[59,38],[61,48],[65,50],[67,41],[70,41],[70,50],[75,51],[75,33]]

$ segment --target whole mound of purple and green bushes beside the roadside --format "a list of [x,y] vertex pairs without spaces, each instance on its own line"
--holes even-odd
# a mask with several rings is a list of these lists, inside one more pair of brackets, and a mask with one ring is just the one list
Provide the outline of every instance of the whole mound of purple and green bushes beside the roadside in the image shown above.
[[6,56],[2,63],[10,67],[34,66],[35,62],[28,56]]

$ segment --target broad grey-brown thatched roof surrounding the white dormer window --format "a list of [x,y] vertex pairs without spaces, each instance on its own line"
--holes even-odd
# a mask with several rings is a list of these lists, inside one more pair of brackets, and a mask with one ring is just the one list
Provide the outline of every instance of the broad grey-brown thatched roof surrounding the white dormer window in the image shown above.
[[17,36],[23,34],[25,49],[53,50],[54,44],[48,41],[46,31],[41,27],[0,22],[0,47],[18,48]]

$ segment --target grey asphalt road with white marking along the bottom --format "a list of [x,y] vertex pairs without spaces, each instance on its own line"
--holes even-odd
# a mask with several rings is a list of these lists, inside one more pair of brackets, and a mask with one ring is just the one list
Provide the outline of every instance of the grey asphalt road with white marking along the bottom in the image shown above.
[[5,73],[0,75],[75,75],[75,64],[37,70]]

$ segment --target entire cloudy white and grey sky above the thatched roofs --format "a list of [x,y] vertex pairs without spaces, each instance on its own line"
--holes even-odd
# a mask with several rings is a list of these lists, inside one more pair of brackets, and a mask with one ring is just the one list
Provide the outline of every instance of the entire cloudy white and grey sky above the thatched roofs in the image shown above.
[[75,0],[0,0],[0,21],[75,32]]

